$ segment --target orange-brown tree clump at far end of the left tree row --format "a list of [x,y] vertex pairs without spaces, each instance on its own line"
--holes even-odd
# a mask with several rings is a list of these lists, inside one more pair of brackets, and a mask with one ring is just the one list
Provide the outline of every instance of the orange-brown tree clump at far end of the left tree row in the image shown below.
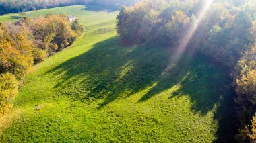
[[27,19],[22,23],[32,30],[34,44],[48,52],[48,56],[72,44],[76,38],[75,30],[80,32],[78,21],[73,26],[75,30],[72,30],[67,16],[63,14],[50,14],[38,19]]

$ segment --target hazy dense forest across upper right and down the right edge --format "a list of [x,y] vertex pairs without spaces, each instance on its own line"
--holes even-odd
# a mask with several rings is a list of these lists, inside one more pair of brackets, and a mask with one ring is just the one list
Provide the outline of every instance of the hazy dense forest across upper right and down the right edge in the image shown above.
[[144,1],[121,7],[122,44],[160,44],[197,50],[230,71],[236,89],[241,142],[256,142],[255,1]]

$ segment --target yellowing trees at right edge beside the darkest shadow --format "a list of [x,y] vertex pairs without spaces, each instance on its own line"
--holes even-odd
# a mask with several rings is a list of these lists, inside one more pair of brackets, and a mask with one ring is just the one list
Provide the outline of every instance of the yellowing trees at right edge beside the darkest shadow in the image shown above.
[[243,142],[256,142],[256,23],[251,28],[251,44],[236,66],[238,75],[236,85],[236,103],[238,117],[243,129],[237,136]]

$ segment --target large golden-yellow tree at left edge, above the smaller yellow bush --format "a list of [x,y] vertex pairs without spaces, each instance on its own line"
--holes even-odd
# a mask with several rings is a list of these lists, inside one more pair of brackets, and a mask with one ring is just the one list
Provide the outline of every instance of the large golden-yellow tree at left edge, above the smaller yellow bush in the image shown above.
[[32,42],[26,38],[26,31],[17,30],[13,24],[2,25],[0,31],[0,73],[13,73],[24,77],[33,65]]

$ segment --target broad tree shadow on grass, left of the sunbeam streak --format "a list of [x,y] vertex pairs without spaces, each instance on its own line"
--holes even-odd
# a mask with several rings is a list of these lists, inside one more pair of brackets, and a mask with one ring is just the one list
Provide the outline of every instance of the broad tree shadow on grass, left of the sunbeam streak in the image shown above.
[[168,58],[169,55],[159,48],[120,47],[117,38],[111,38],[95,44],[90,51],[64,62],[49,73],[65,75],[55,86],[60,94],[82,101],[104,99],[99,105],[103,107],[119,95],[128,97],[152,85],[166,68]]

